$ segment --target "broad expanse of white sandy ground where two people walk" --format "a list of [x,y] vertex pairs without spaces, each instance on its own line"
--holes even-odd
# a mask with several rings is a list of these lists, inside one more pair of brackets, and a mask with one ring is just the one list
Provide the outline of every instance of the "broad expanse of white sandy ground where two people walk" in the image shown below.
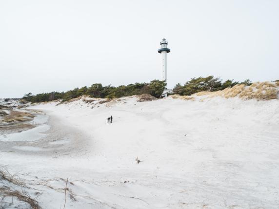
[[71,209],[279,208],[278,99],[98,102],[30,106],[48,117],[38,140],[0,136],[43,209],[63,208],[67,178]]

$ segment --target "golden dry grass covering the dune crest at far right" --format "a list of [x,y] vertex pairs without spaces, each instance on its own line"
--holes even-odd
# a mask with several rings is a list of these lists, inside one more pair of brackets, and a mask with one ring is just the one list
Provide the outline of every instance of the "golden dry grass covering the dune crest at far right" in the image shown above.
[[279,89],[270,82],[256,82],[251,86],[235,85],[217,92],[199,92],[194,95],[208,95],[209,97],[222,96],[225,98],[240,97],[242,99],[270,100],[278,98]]

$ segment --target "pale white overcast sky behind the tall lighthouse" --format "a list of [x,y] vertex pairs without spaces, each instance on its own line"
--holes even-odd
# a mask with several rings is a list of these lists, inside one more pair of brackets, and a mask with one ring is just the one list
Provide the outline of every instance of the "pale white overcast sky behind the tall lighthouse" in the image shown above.
[[279,0],[0,0],[0,97],[160,78],[279,79]]

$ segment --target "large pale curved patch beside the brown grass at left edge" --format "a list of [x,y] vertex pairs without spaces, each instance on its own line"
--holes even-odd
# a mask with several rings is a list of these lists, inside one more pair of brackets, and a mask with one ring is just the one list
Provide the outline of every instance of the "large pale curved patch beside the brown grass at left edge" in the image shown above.
[[38,125],[33,129],[29,129],[20,133],[10,133],[0,135],[0,141],[36,141],[46,135],[47,130],[50,126],[46,124],[48,120],[47,115],[38,115],[31,122],[32,124]]

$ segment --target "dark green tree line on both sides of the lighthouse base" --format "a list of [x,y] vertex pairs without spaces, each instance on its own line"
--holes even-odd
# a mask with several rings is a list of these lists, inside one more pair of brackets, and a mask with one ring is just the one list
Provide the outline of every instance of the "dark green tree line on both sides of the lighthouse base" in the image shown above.
[[[228,87],[233,87],[237,84],[251,85],[252,82],[247,79],[243,82],[232,80],[222,80],[214,76],[206,77],[194,77],[191,80],[185,82],[184,85],[180,83],[176,84],[170,94],[179,95],[192,95],[202,91],[219,91]],[[114,87],[111,85],[103,86],[101,83],[94,83],[90,87],[84,86],[81,88],[75,88],[67,92],[50,92],[33,95],[32,93],[25,94],[23,99],[34,102],[52,101],[56,99],[62,99],[67,101],[72,98],[77,98],[81,95],[88,95],[95,98],[119,98],[123,96],[149,94],[157,98],[161,97],[164,90],[166,90],[166,82],[160,80],[152,80],[149,83],[135,83],[129,85],[120,85]]]

